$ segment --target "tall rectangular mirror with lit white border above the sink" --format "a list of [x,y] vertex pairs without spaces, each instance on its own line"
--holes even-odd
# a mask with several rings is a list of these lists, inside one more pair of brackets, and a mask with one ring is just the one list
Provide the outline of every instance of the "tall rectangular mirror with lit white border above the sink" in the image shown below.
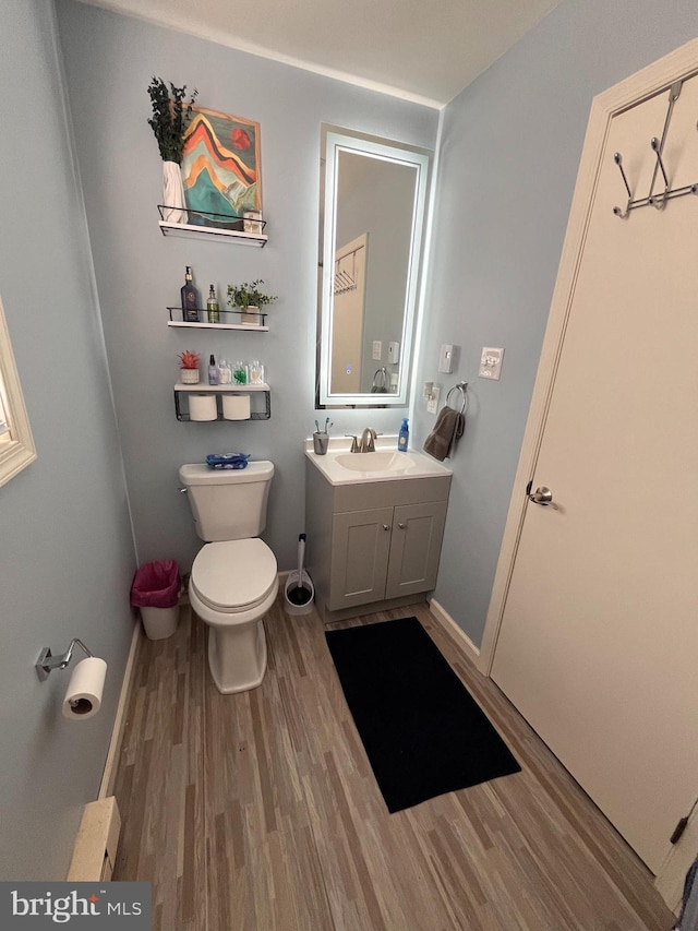
[[430,156],[322,128],[318,407],[407,405]]

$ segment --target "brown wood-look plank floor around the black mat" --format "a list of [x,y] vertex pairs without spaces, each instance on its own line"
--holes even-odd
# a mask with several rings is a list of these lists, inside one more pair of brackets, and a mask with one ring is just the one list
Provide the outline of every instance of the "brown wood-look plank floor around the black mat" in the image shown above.
[[425,607],[417,614],[522,772],[388,814],[313,612],[266,619],[258,689],[221,695],[181,610],[142,638],[115,792],[115,880],[163,931],[666,931],[643,864]]

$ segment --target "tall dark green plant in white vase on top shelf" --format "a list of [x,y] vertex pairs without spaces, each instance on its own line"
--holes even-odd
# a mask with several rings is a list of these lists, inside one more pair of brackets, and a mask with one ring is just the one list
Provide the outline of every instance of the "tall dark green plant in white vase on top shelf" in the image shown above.
[[192,121],[192,108],[198,91],[194,88],[185,100],[186,84],[176,87],[161,77],[154,77],[148,85],[148,95],[153,116],[148,124],[155,134],[160,158],[163,159],[163,219],[171,223],[186,223],[184,206],[184,186],[182,183],[182,155],[184,152],[184,132]]

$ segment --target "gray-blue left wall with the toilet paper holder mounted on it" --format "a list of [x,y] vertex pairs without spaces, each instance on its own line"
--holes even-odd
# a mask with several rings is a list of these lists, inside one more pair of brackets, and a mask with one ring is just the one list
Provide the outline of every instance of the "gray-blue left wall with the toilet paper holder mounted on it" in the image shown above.
[[[53,10],[2,4],[0,295],[38,458],[0,488],[0,879],[64,879],[97,797],[128,654],[135,558]],[[109,666],[101,712],[62,717],[79,636]]]

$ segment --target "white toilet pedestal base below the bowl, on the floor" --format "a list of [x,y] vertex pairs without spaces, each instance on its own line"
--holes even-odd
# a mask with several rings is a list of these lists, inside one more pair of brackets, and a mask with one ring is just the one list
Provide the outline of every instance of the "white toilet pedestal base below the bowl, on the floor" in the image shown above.
[[208,628],[208,668],[224,695],[249,692],[262,684],[266,672],[264,622],[241,628]]

